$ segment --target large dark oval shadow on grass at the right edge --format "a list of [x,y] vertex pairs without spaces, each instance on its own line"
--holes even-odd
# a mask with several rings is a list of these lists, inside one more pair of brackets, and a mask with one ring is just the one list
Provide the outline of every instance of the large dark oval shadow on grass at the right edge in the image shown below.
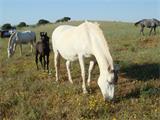
[[134,64],[122,68],[125,76],[130,79],[137,79],[141,81],[153,80],[160,78],[160,64]]

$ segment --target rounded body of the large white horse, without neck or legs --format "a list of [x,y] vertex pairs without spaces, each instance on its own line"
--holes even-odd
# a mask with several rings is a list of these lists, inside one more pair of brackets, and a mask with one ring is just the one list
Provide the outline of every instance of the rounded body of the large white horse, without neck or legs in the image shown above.
[[76,60],[78,54],[84,56],[92,54],[90,39],[84,24],[78,27],[69,25],[57,27],[52,34],[52,44],[54,51],[58,50],[67,60]]

